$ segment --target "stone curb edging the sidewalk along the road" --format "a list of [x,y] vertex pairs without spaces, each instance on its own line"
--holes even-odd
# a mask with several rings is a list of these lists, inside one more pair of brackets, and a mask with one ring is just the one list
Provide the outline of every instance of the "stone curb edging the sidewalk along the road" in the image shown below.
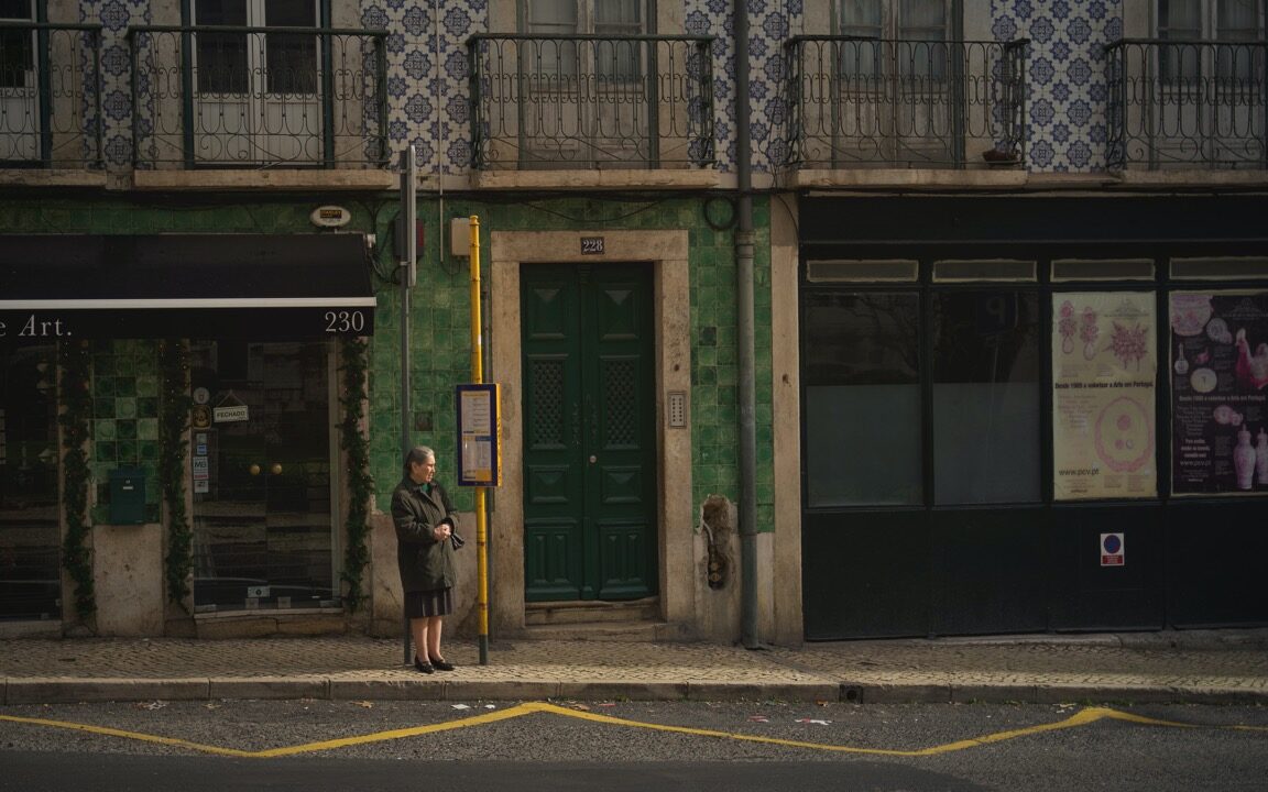
[[990,684],[827,682],[558,682],[216,677],[205,679],[0,680],[0,703],[112,701],[787,701],[909,703],[1200,703],[1268,705],[1268,689],[1134,684]]

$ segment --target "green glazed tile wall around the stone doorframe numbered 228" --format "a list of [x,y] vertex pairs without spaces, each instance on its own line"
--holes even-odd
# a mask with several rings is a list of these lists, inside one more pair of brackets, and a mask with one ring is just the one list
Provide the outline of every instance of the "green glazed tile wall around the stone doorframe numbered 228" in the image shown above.
[[[558,231],[586,228],[664,229],[689,228],[691,266],[691,417],[692,497],[701,503],[710,494],[730,499],[739,495],[739,385],[735,327],[735,253],[733,233],[716,231],[705,222],[701,199],[607,201],[597,199],[530,200],[514,204],[446,201],[445,217],[476,214],[481,242],[488,250],[488,233],[498,231]],[[771,530],[773,521],[773,442],[771,407],[770,337],[770,246],[766,238],[768,207],[757,201],[758,232],[754,261],[757,281],[756,419],[758,530]],[[465,260],[445,259],[437,264],[439,241],[449,229],[436,220],[435,204],[420,201],[426,223],[426,246],[420,251],[418,286],[412,297],[411,413],[431,419],[431,430],[413,431],[415,442],[436,450],[440,465],[451,464],[454,454],[454,385],[470,379],[468,327],[469,288]],[[384,309],[389,307],[388,309]],[[377,336],[372,350],[370,438],[379,508],[401,475],[401,379],[399,379],[399,289],[379,293]],[[491,340],[498,343],[497,338]],[[453,471],[441,470],[453,480]],[[391,482],[392,484],[385,484]],[[456,488],[453,488],[456,489]],[[456,493],[460,508],[470,506],[469,493]]]

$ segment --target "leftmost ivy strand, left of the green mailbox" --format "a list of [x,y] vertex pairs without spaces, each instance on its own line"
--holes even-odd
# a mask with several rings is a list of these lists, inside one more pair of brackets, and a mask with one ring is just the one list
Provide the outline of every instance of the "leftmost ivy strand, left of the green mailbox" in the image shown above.
[[87,342],[62,343],[57,350],[61,367],[58,388],[62,412],[62,508],[66,512],[66,539],[62,544],[62,566],[75,582],[75,613],[81,620],[96,612],[93,585],[93,558],[87,547],[87,444],[93,397],[89,393],[91,351]]

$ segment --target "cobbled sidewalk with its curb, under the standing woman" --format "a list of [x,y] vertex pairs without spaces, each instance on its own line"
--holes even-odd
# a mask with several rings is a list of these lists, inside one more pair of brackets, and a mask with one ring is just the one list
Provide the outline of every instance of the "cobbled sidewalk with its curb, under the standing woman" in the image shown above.
[[782,699],[1268,703],[1268,630],[716,644],[446,642],[424,675],[399,639],[0,641],[0,703],[318,699]]

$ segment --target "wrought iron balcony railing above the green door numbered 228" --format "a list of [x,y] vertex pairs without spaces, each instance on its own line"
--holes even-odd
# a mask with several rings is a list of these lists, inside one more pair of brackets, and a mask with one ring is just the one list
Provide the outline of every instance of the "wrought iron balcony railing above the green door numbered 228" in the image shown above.
[[473,35],[472,167],[711,165],[711,44],[708,35]]

